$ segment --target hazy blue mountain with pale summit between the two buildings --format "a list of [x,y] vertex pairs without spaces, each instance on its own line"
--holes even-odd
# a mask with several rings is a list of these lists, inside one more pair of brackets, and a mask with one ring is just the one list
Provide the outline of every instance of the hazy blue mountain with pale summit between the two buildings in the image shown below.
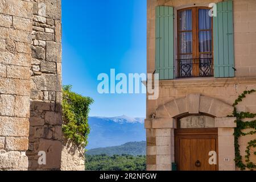
[[89,117],[90,134],[86,149],[119,146],[123,143],[146,140],[144,118]]

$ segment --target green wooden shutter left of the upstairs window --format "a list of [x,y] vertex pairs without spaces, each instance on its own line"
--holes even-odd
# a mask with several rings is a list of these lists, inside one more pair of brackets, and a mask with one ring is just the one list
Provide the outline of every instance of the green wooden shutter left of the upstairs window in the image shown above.
[[174,8],[156,7],[155,73],[160,80],[174,79]]

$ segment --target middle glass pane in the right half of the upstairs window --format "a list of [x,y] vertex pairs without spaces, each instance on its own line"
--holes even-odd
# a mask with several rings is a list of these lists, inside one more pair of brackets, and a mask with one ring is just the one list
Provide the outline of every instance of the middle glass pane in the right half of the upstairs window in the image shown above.
[[199,32],[199,51],[212,52],[212,31]]

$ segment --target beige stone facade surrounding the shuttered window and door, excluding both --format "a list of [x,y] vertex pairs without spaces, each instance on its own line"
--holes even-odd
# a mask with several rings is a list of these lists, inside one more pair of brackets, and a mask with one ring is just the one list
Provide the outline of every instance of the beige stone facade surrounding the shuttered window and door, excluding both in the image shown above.
[[[148,0],[147,1],[147,73],[155,71],[155,7],[172,6],[174,13],[191,6],[206,6],[220,2],[208,0]],[[208,114],[218,128],[218,170],[238,170],[234,163],[233,103],[245,90],[256,89],[256,1],[234,0],[234,56],[236,76],[230,78],[175,78],[159,81],[159,98],[147,100],[145,128],[147,133],[147,170],[171,170],[175,162],[174,131],[177,119],[184,114]],[[174,21],[175,22],[175,21]],[[176,35],[174,45],[176,47]],[[175,57],[177,53],[175,53]],[[177,59],[177,57],[176,57]],[[256,113],[256,94],[250,94],[238,106],[238,111]],[[256,135],[239,140],[243,162],[247,142]],[[251,154],[255,151],[252,149]],[[225,159],[229,158],[228,162]],[[251,155],[251,162],[256,163]]]

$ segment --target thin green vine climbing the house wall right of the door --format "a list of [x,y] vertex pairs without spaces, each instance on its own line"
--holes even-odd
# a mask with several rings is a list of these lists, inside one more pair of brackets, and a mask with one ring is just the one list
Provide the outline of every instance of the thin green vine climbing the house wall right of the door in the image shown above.
[[[240,145],[238,144],[238,139],[240,137],[256,134],[256,120],[246,121],[246,122],[243,121],[243,119],[245,118],[255,118],[256,114],[249,113],[249,112],[238,112],[236,109],[236,106],[239,104],[239,102],[243,100],[243,98],[246,97],[247,94],[251,94],[253,92],[256,92],[256,90],[249,90],[249,91],[243,92],[240,96],[238,96],[237,100],[233,104],[234,111],[233,111],[232,117],[237,118],[236,120],[237,127],[234,130],[234,139],[235,139],[234,144],[235,144],[235,154],[236,154],[235,162],[236,162],[236,166],[239,167],[241,170],[245,170],[246,168],[253,170],[256,168],[256,165],[250,161],[250,155],[251,155],[250,150],[251,148],[256,147],[256,139],[251,140],[250,142],[247,143],[248,146],[246,147],[246,151],[245,151],[246,163],[242,162],[242,156],[240,154]],[[243,133],[243,130],[245,129],[254,129],[254,131]],[[256,152],[254,152],[254,155],[256,155]]]

